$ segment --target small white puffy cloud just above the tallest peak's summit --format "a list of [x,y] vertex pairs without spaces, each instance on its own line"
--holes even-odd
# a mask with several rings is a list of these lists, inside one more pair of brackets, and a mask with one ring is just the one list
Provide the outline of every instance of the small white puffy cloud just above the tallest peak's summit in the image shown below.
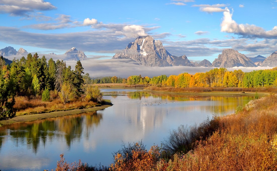
[[140,25],[126,25],[122,28],[121,31],[116,31],[118,35],[124,35],[127,38],[146,36],[145,30]]

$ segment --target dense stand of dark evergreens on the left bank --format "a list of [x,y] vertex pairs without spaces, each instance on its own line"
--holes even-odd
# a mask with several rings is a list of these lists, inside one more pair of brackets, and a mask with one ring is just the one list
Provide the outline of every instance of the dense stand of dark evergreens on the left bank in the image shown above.
[[[47,61],[45,56],[29,53],[27,59],[14,59],[6,65],[3,57],[0,59],[0,119],[15,115],[12,106],[15,96],[42,96],[43,101],[52,96],[59,97],[61,102],[83,97],[86,100],[101,101],[100,90],[89,87],[89,74],[83,75],[84,68],[77,61],[75,69],[66,66],[65,61]],[[84,84],[87,86],[84,86]]]

